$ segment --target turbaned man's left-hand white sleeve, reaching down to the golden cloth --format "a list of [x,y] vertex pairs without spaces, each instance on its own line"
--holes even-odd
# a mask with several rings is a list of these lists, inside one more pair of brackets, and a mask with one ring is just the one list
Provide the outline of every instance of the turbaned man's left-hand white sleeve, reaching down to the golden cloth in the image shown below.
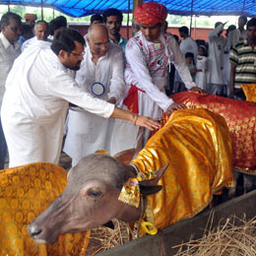
[[134,78],[137,81],[136,86],[145,91],[163,111],[166,111],[168,106],[173,103],[173,100],[160,92],[158,86],[153,84],[152,77],[147,68],[144,54],[140,47],[133,43],[132,45],[126,45],[125,57],[133,72]]

